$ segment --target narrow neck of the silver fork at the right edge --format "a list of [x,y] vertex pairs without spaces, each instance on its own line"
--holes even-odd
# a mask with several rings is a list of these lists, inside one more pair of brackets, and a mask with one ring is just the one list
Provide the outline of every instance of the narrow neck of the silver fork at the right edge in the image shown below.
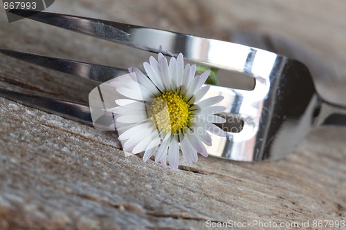
[[346,106],[328,102],[320,97],[320,106],[316,108],[315,126],[346,126]]

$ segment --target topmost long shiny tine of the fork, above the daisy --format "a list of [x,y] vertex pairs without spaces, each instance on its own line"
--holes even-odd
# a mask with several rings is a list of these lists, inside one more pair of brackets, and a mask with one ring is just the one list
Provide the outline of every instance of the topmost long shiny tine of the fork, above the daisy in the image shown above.
[[[32,10],[10,10],[9,12],[141,50],[162,52],[170,56],[183,53],[184,59],[188,61],[226,70],[244,71],[244,73],[248,71],[248,66],[251,66],[252,58],[258,50],[227,41],[101,19],[62,15],[53,12],[36,12],[33,14]],[[250,63],[244,66],[246,60]],[[233,64],[230,65],[230,63]]]

